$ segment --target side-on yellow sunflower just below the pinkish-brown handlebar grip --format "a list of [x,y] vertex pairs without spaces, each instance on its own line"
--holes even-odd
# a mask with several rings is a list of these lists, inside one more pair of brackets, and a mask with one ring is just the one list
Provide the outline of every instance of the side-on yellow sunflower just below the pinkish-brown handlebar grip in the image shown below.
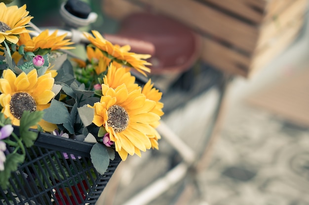
[[130,46],[126,45],[120,47],[119,45],[113,45],[111,42],[104,39],[98,31],[92,30],[92,33],[95,37],[87,32],[84,32],[84,35],[94,46],[113,56],[117,62],[127,62],[145,76],[146,73],[144,71],[150,72],[150,68],[146,67],[146,65],[151,65],[151,63],[143,60],[150,58],[150,55],[130,53]]

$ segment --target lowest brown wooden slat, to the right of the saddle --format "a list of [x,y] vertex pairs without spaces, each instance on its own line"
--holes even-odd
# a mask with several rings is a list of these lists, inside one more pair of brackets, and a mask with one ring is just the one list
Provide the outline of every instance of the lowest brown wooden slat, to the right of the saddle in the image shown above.
[[249,72],[248,57],[207,38],[203,39],[201,59],[228,73],[246,77]]

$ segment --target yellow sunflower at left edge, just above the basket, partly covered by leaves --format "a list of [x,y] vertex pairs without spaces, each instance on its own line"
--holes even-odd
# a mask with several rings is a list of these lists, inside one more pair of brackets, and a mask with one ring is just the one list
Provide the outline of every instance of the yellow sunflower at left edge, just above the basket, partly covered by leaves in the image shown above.
[[[49,102],[55,95],[51,90],[53,85],[54,79],[51,73],[38,78],[37,70],[34,69],[28,74],[22,72],[16,77],[12,70],[3,70],[0,79],[1,112],[11,119],[13,125],[19,126],[24,111],[41,111],[50,106]],[[57,128],[56,125],[43,119],[39,125],[45,131],[53,131]]]

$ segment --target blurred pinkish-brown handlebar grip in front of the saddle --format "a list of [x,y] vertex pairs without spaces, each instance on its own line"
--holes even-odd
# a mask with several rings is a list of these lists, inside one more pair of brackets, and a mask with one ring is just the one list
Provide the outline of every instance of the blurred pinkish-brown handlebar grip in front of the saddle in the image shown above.
[[128,38],[118,34],[104,34],[103,36],[106,40],[113,44],[117,44],[119,46],[129,45],[131,47],[131,52],[137,54],[150,54],[152,56],[154,55],[155,47],[151,42]]

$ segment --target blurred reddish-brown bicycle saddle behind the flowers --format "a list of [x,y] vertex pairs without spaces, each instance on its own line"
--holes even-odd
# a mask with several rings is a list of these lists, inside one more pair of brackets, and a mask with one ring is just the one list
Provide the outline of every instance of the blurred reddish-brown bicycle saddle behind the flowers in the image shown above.
[[149,59],[152,74],[182,73],[190,69],[201,50],[199,36],[163,15],[132,14],[122,20],[117,34],[154,45],[154,55]]

